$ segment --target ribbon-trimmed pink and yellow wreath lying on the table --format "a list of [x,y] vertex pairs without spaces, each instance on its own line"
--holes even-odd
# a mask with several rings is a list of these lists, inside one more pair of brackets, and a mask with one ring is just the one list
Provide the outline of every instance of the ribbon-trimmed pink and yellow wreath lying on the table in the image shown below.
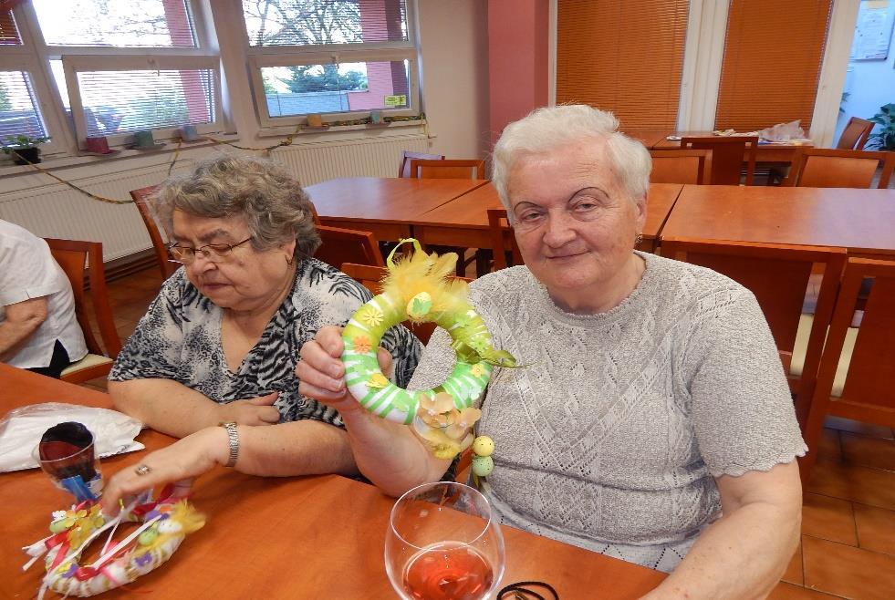
[[[151,501],[151,491],[123,508],[117,517],[100,512],[99,503],[84,501],[69,511],[53,512],[51,535],[23,548],[32,558],[26,570],[46,554],[47,575],[37,593],[42,600],[47,589],[61,595],[87,597],[130,584],[161,566],[180,547],[187,533],[203,527],[205,518],[185,500],[172,499],[172,486]],[[112,542],[122,522],[140,526],[120,542]],[[109,532],[99,558],[91,564],[79,564],[81,554],[103,533]]]

